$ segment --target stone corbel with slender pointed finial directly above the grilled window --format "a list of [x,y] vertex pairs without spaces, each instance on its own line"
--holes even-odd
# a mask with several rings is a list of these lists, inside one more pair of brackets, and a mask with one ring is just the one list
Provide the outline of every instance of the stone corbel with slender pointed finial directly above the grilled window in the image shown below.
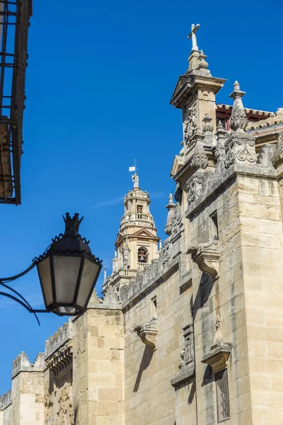
[[212,347],[209,353],[207,353],[202,359],[202,363],[207,363],[212,368],[214,373],[220,372],[221,370],[226,369],[230,353],[231,346],[224,343],[222,339],[220,331],[220,319],[217,316]]

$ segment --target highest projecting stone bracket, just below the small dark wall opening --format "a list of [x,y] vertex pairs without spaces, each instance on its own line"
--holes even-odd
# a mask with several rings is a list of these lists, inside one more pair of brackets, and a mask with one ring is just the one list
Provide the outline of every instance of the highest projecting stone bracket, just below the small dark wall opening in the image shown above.
[[207,273],[212,280],[219,278],[220,253],[218,239],[214,239],[209,244],[192,246],[187,250],[187,254],[192,254],[192,261],[197,264],[200,271]]

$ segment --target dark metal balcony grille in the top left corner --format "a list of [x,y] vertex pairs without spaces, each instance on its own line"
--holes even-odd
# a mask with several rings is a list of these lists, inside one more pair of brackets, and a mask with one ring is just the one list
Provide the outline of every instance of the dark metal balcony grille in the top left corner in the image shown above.
[[31,0],[0,0],[0,203],[21,203],[25,68]]

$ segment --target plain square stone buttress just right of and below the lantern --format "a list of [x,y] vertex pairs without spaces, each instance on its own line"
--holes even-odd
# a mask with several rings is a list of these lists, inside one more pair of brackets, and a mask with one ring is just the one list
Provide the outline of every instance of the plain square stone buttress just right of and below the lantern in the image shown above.
[[119,306],[98,304],[74,321],[77,425],[124,423],[124,322]]

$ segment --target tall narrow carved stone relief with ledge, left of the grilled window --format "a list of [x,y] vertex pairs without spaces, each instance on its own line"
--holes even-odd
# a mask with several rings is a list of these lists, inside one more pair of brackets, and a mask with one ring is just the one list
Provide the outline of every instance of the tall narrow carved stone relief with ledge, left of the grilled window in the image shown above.
[[180,386],[195,374],[194,334],[192,323],[184,327],[183,331],[184,349],[180,352],[182,362],[179,365],[178,374],[171,380],[171,385],[173,385],[173,387]]

